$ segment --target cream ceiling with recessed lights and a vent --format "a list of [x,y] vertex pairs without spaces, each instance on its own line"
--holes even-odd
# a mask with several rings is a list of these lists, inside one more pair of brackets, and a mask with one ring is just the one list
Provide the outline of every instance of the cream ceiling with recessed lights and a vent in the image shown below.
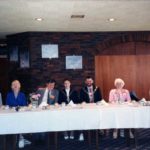
[[150,31],[150,0],[0,0],[0,38],[26,31]]

